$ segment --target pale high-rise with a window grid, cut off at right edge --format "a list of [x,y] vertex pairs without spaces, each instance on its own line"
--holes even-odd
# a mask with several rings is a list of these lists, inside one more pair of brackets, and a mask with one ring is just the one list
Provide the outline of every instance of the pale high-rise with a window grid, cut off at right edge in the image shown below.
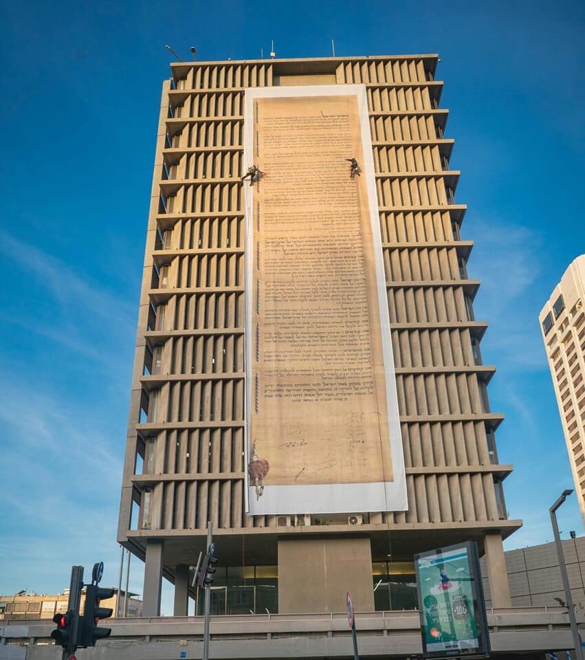
[[566,269],[539,320],[585,521],[585,254]]

